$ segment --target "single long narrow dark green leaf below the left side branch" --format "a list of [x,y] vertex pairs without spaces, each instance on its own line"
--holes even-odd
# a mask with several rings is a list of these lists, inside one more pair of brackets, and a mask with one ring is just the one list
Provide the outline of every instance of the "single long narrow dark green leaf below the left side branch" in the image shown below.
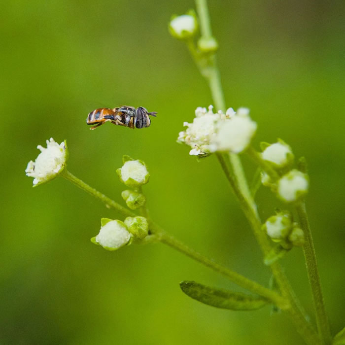
[[250,311],[270,303],[267,299],[260,296],[213,288],[190,280],[182,281],[180,287],[189,297],[216,308]]

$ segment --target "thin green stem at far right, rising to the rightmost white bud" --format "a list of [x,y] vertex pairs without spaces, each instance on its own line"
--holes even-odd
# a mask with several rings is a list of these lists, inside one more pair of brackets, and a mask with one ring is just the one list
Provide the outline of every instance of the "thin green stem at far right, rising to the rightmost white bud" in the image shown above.
[[312,241],[311,228],[309,225],[306,204],[304,201],[296,206],[296,211],[298,213],[300,224],[304,231],[306,240],[305,244],[303,245],[303,252],[307,265],[308,278],[311,285],[317,329],[321,339],[324,341],[324,344],[331,344],[331,332],[323,301],[321,281],[316,262],[315,248]]

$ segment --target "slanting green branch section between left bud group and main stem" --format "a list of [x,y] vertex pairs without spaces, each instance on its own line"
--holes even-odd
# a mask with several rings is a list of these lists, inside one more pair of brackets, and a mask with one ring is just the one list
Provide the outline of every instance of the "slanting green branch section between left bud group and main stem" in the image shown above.
[[226,276],[234,282],[235,284],[242,286],[243,288],[258,294],[260,296],[266,297],[268,300],[272,301],[274,304],[276,304],[280,309],[286,310],[290,307],[289,303],[281,297],[278,293],[276,293],[273,290],[270,290],[263,285],[258,284],[257,282],[250,280],[246,278],[245,276],[242,276],[234,271],[231,271],[224,266],[221,266],[211,259],[208,259],[207,257],[201,255],[200,253],[196,252],[195,250],[189,248],[187,245],[185,245],[182,242],[177,241],[172,236],[166,234],[166,233],[159,233],[158,236],[160,237],[160,241],[168,244],[172,248],[180,251],[181,253],[189,256],[190,258],[202,263],[203,265],[211,268],[213,271],[219,272],[222,275]]

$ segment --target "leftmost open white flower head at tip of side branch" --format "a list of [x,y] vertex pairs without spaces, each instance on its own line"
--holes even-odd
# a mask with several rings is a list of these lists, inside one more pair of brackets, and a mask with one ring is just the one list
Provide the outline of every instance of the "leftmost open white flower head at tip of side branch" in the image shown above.
[[27,176],[34,177],[34,187],[48,182],[61,173],[66,167],[68,150],[66,141],[60,145],[53,138],[47,140],[47,148],[38,145],[41,153],[35,162],[30,161],[25,170]]

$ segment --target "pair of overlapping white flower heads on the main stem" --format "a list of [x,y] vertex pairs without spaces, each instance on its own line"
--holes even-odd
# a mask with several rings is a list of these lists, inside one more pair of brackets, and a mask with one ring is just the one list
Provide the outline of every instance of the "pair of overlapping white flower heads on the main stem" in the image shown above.
[[250,143],[256,131],[256,123],[249,117],[247,108],[237,112],[229,108],[225,114],[219,110],[213,113],[213,106],[198,107],[193,123],[184,122],[187,127],[179,133],[177,142],[191,147],[190,155],[207,157],[215,151],[239,153]]

